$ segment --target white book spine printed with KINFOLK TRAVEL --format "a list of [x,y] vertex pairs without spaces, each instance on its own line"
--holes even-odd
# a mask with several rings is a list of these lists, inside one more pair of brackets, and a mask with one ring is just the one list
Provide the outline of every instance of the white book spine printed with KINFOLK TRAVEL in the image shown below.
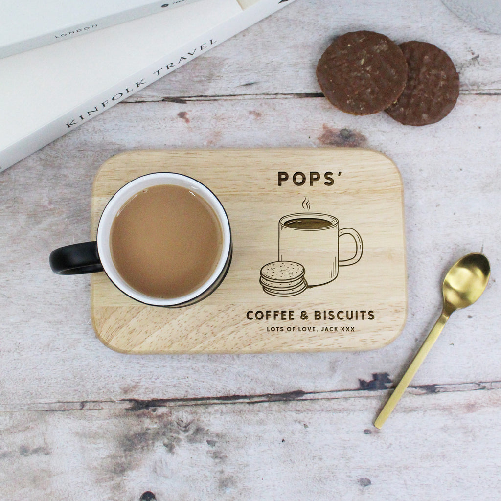
[[294,1],[267,0],[249,7],[228,21],[208,30],[175,53],[143,68],[127,81],[114,85],[57,120],[47,123],[43,128],[23,138],[22,141],[0,152],[0,172]]

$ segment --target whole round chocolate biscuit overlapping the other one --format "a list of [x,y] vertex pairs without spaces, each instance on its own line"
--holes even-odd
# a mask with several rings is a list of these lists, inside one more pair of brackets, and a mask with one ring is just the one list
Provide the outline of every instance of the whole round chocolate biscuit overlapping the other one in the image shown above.
[[346,33],[322,54],[317,78],[325,97],[352,115],[382,111],[402,93],[407,64],[397,44],[369,31]]

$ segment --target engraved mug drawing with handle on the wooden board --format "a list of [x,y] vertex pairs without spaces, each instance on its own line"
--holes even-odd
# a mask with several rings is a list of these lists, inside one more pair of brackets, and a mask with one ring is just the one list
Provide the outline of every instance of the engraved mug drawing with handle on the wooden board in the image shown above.
[[[350,259],[339,259],[339,238],[351,235],[357,249]],[[350,266],[362,257],[362,238],[353,228],[339,229],[328,214],[303,212],[279,220],[279,261],[301,263],[308,287],[328,284],[338,276],[339,266]]]

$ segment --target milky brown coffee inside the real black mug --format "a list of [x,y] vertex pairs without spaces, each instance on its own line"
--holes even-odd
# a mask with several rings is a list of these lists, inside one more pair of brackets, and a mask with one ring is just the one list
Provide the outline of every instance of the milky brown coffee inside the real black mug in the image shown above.
[[214,210],[183,186],[163,184],[136,193],[115,216],[113,263],[121,277],[147,296],[192,293],[212,275],[222,250]]

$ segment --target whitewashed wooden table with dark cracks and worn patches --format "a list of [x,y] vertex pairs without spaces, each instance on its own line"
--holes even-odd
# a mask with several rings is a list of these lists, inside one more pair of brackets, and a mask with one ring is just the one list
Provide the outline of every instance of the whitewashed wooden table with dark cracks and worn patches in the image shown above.
[[[357,29],[444,49],[450,115],[414,128],[331,106],[316,62]],[[0,498],[499,499],[500,129],[501,36],[439,0],[298,0],[0,174]],[[115,153],[333,145],[382,151],[404,181],[408,319],[383,349],[122,355],[94,335],[89,278],[49,269],[53,248],[88,239],[93,176]],[[377,430],[445,271],[480,251],[484,296]]]

